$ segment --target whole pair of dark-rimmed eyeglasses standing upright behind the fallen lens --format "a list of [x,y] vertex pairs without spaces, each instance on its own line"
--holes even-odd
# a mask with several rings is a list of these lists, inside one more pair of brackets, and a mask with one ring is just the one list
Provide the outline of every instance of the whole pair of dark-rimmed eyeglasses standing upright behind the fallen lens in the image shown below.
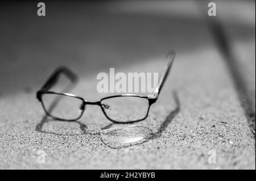
[[42,103],[47,116],[60,121],[76,121],[84,113],[86,106],[97,105],[101,107],[104,115],[114,123],[135,123],[147,118],[152,104],[156,102],[160,91],[166,82],[172,63],[174,62],[175,51],[170,50],[167,54],[167,65],[164,68],[158,87],[152,96],[135,94],[114,95],[102,98],[97,102],[90,102],[80,96],[67,92],[49,91],[58,81],[61,74],[68,77],[72,83],[78,78],[71,70],[61,67],[56,69],[47,79],[42,88],[36,92],[36,98]]

